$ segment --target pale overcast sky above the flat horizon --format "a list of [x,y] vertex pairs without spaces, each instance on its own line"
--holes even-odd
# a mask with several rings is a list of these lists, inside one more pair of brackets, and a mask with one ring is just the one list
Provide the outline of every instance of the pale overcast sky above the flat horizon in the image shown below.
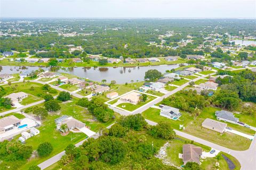
[[0,17],[256,18],[255,0],[0,0]]

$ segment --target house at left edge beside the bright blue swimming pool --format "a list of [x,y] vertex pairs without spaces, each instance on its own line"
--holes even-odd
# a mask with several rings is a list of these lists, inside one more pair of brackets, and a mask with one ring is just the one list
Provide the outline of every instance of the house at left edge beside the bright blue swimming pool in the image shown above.
[[0,134],[20,125],[21,120],[11,115],[0,119]]

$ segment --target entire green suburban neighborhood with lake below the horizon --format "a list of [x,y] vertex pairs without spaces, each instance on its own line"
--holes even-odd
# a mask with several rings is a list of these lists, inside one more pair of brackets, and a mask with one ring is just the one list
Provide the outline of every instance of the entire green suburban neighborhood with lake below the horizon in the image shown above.
[[253,20],[0,26],[0,169],[255,169]]

